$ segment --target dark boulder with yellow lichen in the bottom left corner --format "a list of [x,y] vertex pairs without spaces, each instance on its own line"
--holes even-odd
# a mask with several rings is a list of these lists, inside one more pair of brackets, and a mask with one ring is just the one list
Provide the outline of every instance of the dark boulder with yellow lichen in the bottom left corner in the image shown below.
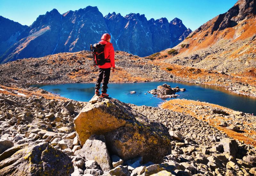
[[67,175],[74,172],[71,159],[48,143],[15,152],[0,162],[0,175]]

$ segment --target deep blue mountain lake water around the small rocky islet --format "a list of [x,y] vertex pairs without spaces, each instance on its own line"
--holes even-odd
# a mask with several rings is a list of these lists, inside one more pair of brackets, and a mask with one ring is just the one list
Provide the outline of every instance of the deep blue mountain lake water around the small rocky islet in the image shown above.
[[[157,88],[158,85],[169,84],[171,87],[179,86],[186,88],[185,92],[178,92],[180,97],[189,100],[205,101],[218,104],[237,111],[256,114],[256,98],[237,95],[223,88],[203,84],[189,84],[180,82],[145,82],[145,83],[109,83],[108,94],[125,103],[135,105],[158,106],[164,102],[163,99],[153,97],[147,91]],[[52,85],[34,85],[48,92],[59,94],[60,96],[77,101],[89,101],[94,95],[93,83],[74,83],[74,84],[52,84]],[[136,93],[130,94],[131,91]],[[147,93],[147,94],[144,94]],[[165,99],[165,100],[170,100]]]

